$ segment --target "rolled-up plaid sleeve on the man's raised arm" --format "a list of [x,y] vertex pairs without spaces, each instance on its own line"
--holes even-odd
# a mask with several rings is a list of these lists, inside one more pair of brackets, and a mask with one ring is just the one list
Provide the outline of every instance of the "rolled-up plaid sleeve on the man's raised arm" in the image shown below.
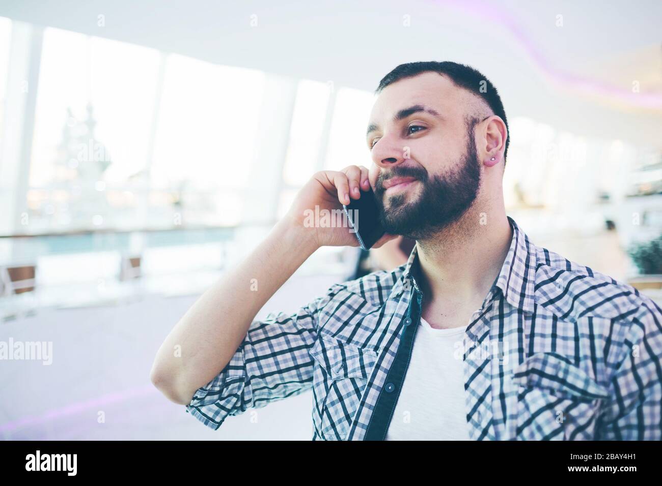
[[187,413],[218,429],[226,417],[299,395],[312,386],[310,349],[317,337],[317,312],[329,295],[293,314],[269,313],[253,321],[230,362],[197,389]]

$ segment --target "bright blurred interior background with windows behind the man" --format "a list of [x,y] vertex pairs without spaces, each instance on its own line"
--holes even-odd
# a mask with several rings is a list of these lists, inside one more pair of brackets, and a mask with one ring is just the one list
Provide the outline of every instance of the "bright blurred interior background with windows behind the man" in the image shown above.
[[[510,124],[506,211],[662,300],[662,3],[0,3],[0,438],[312,437],[312,394],[217,431],[150,384],[179,317],[315,171],[369,166],[379,80],[457,61]],[[265,305],[350,278],[320,249]]]

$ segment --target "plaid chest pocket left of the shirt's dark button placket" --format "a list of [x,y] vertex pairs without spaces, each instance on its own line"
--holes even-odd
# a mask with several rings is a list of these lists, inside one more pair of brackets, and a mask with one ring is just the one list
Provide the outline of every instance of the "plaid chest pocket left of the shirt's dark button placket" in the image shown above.
[[317,434],[324,440],[345,440],[377,352],[320,335],[310,355],[315,361],[312,418]]

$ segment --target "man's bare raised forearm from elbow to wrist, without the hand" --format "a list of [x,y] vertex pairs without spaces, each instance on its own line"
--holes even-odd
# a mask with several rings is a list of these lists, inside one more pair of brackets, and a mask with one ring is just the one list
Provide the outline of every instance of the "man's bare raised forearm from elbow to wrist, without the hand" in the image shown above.
[[189,403],[230,362],[261,307],[316,249],[314,230],[277,223],[175,325],[156,354],[154,385],[171,401]]

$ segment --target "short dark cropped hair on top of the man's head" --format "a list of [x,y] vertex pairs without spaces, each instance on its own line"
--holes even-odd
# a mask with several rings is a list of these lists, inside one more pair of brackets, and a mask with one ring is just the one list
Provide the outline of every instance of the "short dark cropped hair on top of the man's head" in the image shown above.
[[[396,81],[400,81],[407,77],[413,77],[420,73],[426,73],[428,71],[448,76],[455,86],[466,89],[469,93],[473,93],[473,95],[483,99],[494,114],[503,120],[504,124],[506,124],[506,130],[508,130],[506,148],[503,153],[503,163],[505,167],[506,156],[508,155],[508,145],[510,145],[508,118],[506,118],[506,112],[503,109],[503,103],[501,102],[501,97],[498,95],[498,91],[496,91],[495,85],[493,85],[492,82],[477,69],[452,61],[408,62],[395,67],[393,71],[385,75],[382,80],[379,81],[379,86],[375,90],[375,94],[381,93],[385,87]],[[479,121],[481,120],[473,120],[473,123],[467,124],[467,126],[474,126],[475,123]]]

